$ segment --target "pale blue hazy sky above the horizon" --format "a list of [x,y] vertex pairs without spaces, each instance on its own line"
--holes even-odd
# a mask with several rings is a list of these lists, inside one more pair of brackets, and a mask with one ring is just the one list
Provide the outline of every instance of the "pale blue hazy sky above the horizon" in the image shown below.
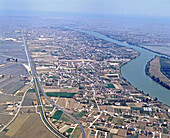
[[0,0],[0,12],[64,12],[170,17],[170,0]]

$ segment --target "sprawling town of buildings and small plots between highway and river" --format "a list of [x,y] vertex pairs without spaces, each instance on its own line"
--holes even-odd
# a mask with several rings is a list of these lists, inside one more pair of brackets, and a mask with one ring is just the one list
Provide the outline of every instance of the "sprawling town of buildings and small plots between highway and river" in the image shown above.
[[[45,92],[82,123],[88,137],[169,136],[169,107],[121,77],[121,66],[138,52],[62,27],[26,34]],[[59,130],[70,128],[68,119],[53,117],[56,110],[46,110],[47,118]]]

